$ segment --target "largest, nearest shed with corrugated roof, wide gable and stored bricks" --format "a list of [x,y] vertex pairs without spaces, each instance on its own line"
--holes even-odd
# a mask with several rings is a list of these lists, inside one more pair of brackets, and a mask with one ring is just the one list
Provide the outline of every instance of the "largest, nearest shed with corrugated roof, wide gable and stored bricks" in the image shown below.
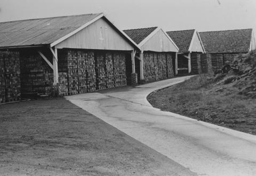
[[0,51],[19,54],[21,93],[76,94],[124,86],[131,75],[127,63],[138,50],[103,13],[1,22],[0,36]]

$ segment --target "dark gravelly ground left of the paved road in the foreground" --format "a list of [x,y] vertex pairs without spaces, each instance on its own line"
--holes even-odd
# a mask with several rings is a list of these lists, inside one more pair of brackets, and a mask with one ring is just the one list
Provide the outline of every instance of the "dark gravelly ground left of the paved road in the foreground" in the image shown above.
[[63,98],[0,106],[0,175],[194,175]]

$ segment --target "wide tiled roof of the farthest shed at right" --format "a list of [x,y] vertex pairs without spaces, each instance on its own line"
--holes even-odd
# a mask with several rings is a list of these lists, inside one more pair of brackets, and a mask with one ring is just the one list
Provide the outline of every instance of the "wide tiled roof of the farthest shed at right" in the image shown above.
[[199,33],[208,53],[241,53],[250,50],[252,29]]

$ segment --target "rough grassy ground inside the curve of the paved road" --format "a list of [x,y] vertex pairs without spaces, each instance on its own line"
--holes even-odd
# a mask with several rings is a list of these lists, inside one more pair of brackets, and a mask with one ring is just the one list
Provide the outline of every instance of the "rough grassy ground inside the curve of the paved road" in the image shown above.
[[150,94],[148,101],[163,111],[256,134],[256,99],[238,92],[233,83],[218,84],[212,76],[198,75]]

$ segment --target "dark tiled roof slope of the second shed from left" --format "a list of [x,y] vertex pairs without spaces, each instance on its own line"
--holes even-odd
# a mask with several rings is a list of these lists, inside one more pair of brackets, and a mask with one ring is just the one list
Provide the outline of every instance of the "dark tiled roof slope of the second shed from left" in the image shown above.
[[157,27],[140,28],[140,29],[127,29],[124,33],[127,34],[135,43],[140,44],[149,34],[153,33]]

